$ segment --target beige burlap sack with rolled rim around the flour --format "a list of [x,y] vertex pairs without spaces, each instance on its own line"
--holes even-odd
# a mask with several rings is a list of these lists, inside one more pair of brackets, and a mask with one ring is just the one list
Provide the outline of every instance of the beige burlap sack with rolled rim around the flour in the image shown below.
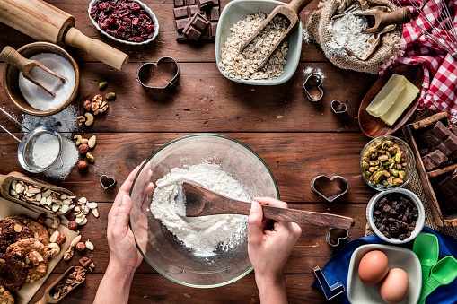
[[[365,1],[364,3],[366,4]],[[350,0],[323,0],[318,9],[312,13],[306,24],[306,30],[308,30],[312,39],[320,45],[325,56],[333,65],[342,69],[378,74],[382,63],[389,62],[401,54],[399,42],[403,33],[403,25],[396,25],[393,30],[383,33],[378,47],[374,49],[373,54],[366,60],[360,60],[356,56],[349,56],[346,52],[343,52],[344,54],[334,52],[329,47],[334,40],[328,31],[328,26],[332,16],[342,13],[349,4]],[[369,0],[368,4],[371,6],[387,6],[390,10],[396,9],[396,6],[389,0]]]

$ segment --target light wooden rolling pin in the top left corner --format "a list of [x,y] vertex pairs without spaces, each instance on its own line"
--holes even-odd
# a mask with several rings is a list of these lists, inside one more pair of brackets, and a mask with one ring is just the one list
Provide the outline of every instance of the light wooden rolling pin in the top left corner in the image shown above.
[[33,39],[81,48],[101,62],[122,70],[127,54],[75,29],[75,18],[41,0],[0,0],[0,22]]

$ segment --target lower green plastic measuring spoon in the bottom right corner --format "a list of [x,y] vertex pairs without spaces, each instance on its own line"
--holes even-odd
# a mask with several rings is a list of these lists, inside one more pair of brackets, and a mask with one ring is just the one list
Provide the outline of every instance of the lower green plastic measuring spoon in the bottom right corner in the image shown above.
[[447,285],[457,277],[457,260],[453,256],[444,256],[432,267],[430,277],[422,284],[418,304],[426,302],[426,297],[441,285]]

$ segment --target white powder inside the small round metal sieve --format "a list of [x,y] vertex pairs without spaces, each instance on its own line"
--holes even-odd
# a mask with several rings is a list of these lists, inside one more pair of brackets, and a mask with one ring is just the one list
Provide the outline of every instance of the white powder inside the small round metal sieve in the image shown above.
[[36,166],[47,168],[56,161],[60,144],[57,136],[44,133],[32,142],[32,159]]

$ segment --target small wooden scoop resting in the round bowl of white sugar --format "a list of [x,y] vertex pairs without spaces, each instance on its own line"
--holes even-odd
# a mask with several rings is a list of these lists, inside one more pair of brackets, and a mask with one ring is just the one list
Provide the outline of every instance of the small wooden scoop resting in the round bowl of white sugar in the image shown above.
[[31,83],[36,84],[41,90],[46,91],[48,94],[52,95],[52,97],[56,97],[56,94],[52,91],[48,91],[44,86],[42,86],[35,78],[31,76],[31,69],[33,67],[39,67],[48,74],[53,75],[60,79],[62,83],[65,83],[65,78],[59,74],[56,74],[48,69],[48,67],[41,65],[40,62],[36,60],[27,59],[21,54],[19,54],[14,48],[11,47],[4,47],[2,52],[0,53],[0,60],[3,60],[5,63],[14,65],[18,68],[19,71],[22,72],[22,75],[25,79],[31,81]]

